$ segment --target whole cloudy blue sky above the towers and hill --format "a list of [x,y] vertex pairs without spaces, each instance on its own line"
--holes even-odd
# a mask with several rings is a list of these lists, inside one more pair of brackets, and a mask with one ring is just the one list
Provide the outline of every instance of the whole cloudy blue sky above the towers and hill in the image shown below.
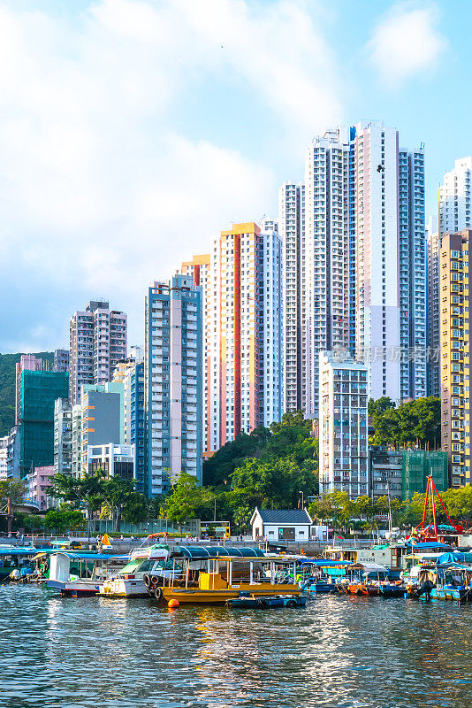
[[314,135],[425,146],[427,215],[472,154],[472,3],[0,0],[0,352],[68,346],[233,222],[277,218]]

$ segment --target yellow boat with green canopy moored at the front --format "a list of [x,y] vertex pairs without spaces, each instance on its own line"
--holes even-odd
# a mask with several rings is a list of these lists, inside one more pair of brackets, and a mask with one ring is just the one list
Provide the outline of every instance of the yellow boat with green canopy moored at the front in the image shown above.
[[181,547],[174,556],[175,572],[148,592],[179,604],[225,604],[241,592],[255,597],[300,595],[296,563],[297,558],[265,556],[259,549]]

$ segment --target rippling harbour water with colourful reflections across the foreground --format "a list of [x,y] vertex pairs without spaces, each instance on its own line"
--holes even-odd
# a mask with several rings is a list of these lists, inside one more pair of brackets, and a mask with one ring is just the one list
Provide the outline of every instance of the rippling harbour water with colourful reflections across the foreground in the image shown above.
[[472,606],[180,608],[0,586],[5,708],[468,708]]

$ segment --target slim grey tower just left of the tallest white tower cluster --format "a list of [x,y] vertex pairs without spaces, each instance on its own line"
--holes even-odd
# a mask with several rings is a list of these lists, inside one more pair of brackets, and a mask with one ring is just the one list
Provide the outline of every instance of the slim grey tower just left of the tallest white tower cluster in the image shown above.
[[278,192],[282,239],[283,409],[305,410],[305,186],[285,182]]

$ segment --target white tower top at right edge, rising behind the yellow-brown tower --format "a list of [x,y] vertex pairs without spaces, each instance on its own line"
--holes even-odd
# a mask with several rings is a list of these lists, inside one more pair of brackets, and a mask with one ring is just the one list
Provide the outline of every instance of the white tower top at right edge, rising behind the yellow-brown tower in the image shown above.
[[439,187],[439,234],[457,234],[472,226],[472,156],[455,161]]

